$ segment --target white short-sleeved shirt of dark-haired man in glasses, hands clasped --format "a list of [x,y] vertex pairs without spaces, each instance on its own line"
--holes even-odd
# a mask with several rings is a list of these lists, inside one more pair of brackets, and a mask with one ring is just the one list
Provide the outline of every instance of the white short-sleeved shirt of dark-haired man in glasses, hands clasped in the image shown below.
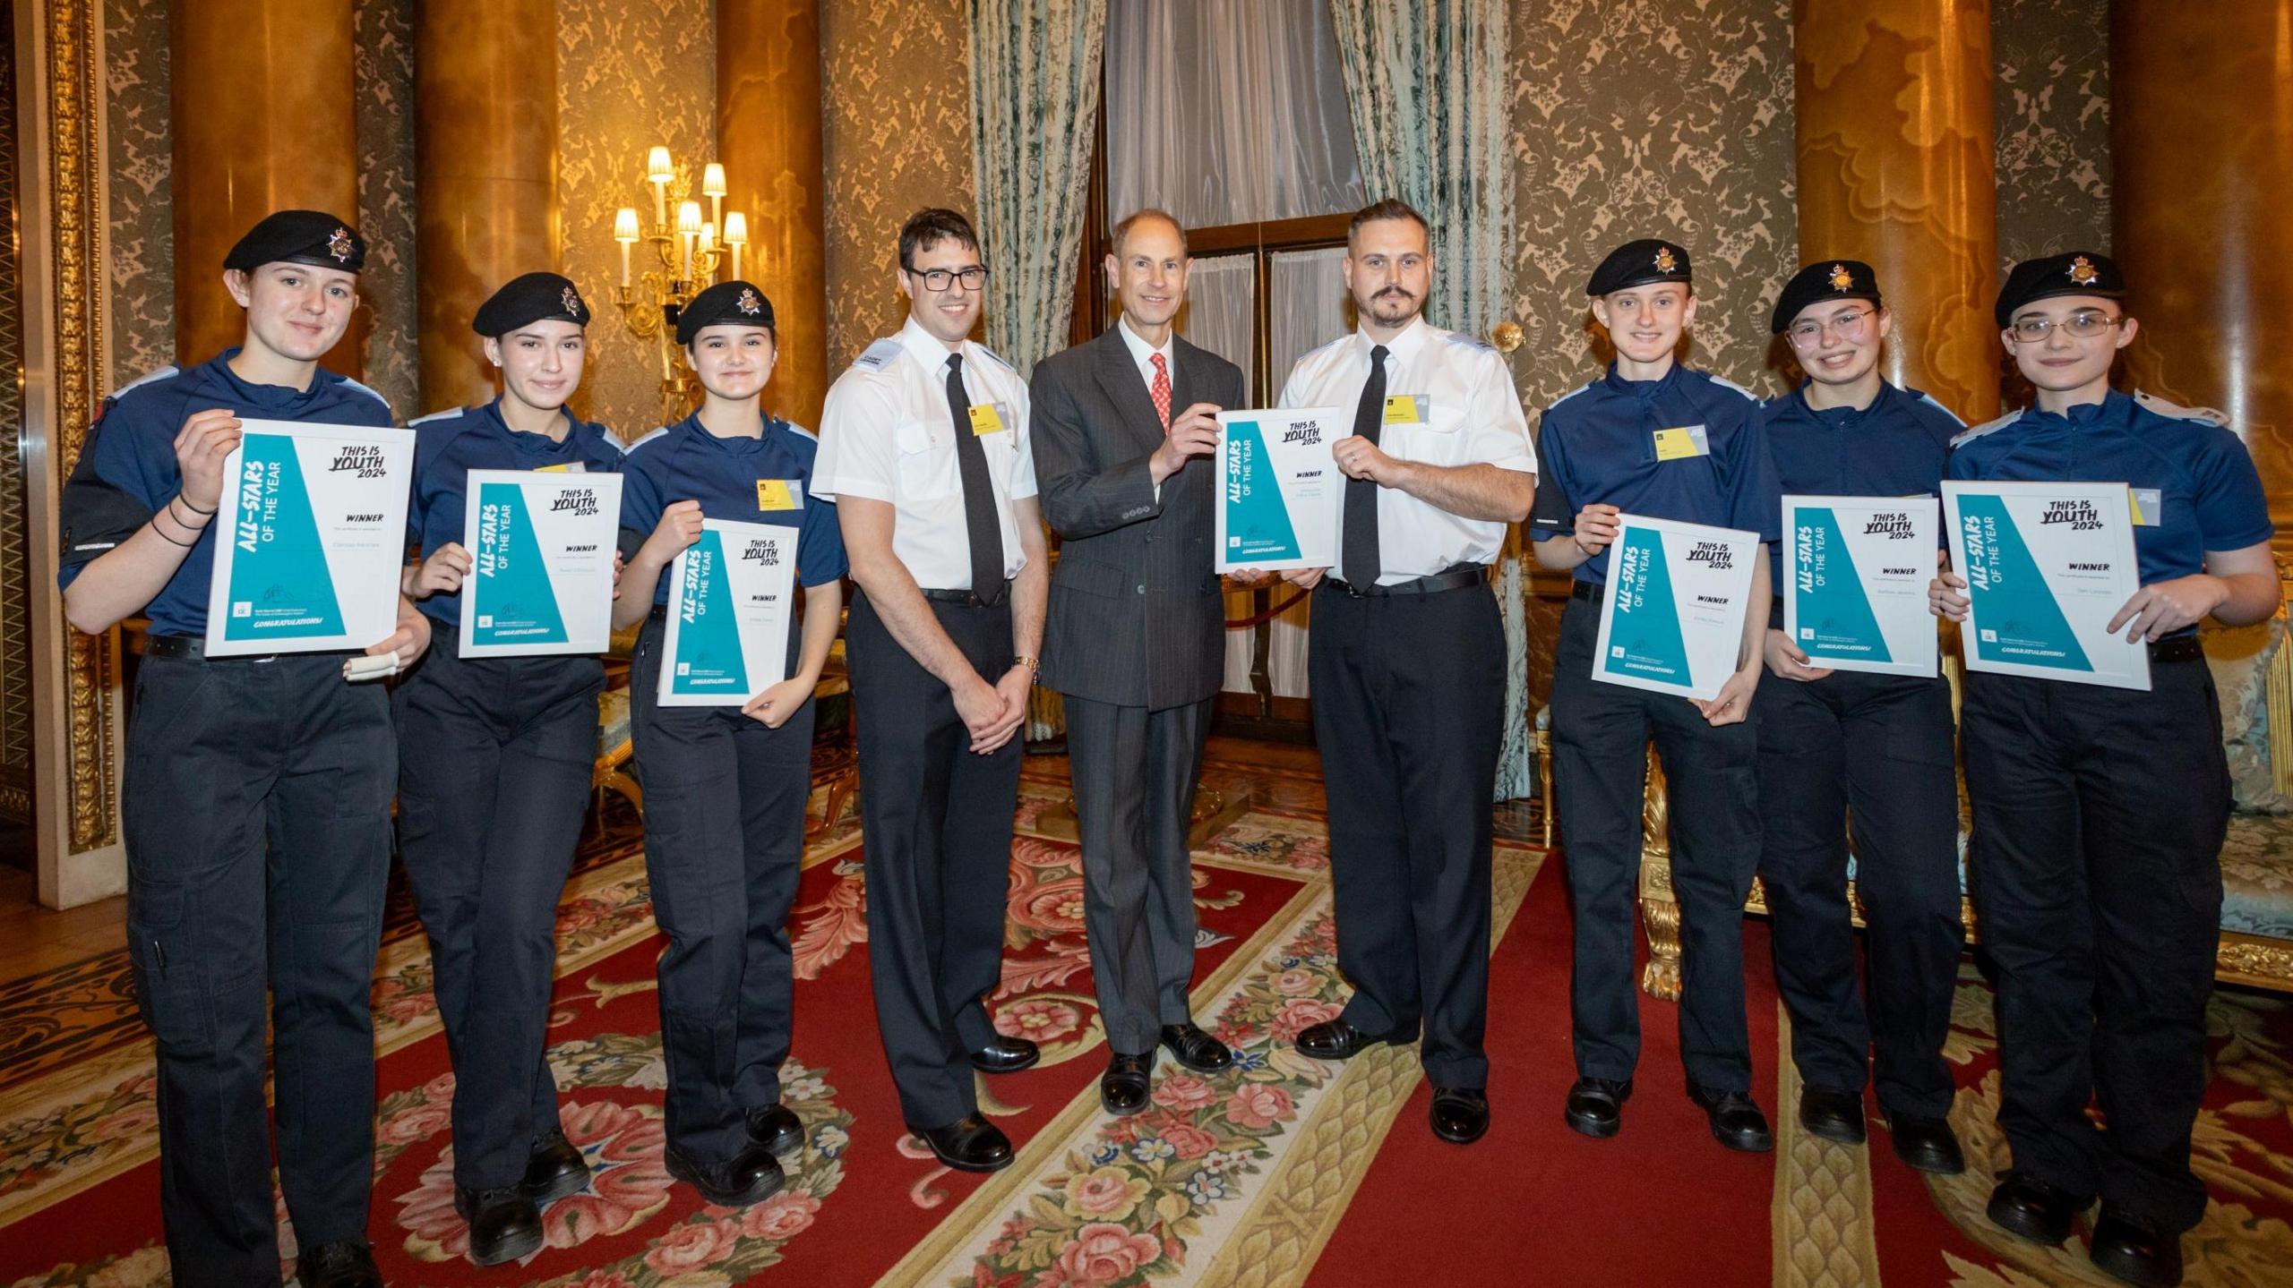
[[[956,424],[947,408],[952,351],[913,316],[899,335],[867,346],[828,387],[821,410],[821,454],[812,495],[823,502],[867,497],[890,502],[892,555],[917,587],[968,591],[972,545],[963,523],[963,474],[956,465]],[[1027,383],[988,348],[963,341],[963,392],[972,406],[995,406],[1002,429],[979,435],[988,458],[1002,525],[1004,578],[1027,566],[1011,502],[1034,495],[1034,451],[1027,447]]]

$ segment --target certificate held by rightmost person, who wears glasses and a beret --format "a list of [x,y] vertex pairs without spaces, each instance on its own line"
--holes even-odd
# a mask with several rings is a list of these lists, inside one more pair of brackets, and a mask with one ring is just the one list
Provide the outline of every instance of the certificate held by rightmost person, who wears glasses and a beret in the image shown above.
[[2126,484],[1944,481],[1970,672],[2149,690],[2149,649],[2110,633],[2142,589]]

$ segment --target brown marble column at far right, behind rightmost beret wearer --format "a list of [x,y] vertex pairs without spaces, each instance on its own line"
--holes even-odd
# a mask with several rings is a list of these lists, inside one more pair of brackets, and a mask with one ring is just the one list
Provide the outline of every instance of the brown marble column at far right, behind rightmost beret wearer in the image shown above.
[[2114,0],[2110,99],[2128,376],[2229,415],[2293,548],[2293,0]]

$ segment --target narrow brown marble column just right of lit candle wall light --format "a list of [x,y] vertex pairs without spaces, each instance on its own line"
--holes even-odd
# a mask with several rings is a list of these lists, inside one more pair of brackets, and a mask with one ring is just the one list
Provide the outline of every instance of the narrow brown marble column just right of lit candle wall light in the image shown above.
[[816,429],[828,396],[819,0],[718,0],[718,156],[725,209],[748,215],[741,273],[780,323],[764,403]]

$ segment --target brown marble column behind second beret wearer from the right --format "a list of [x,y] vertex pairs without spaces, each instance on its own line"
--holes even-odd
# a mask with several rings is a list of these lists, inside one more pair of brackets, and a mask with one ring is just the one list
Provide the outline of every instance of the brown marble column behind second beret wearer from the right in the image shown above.
[[1800,257],[1869,261],[1894,309],[1887,378],[1988,419],[1999,406],[1990,5],[1798,14]]

